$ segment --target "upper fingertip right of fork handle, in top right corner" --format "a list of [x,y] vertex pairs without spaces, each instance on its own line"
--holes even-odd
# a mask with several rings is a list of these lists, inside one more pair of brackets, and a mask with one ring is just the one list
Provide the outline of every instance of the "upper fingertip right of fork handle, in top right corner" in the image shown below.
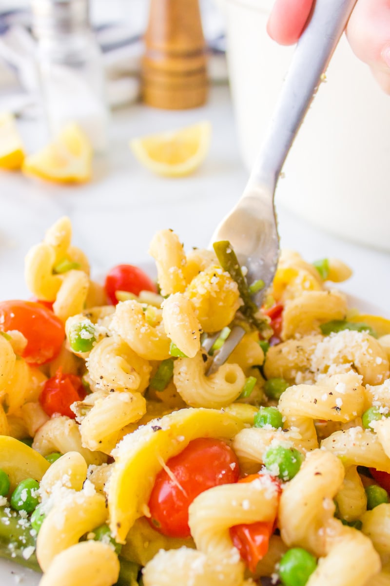
[[390,0],[358,0],[347,38],[359,59],[374,71],[390,74]]

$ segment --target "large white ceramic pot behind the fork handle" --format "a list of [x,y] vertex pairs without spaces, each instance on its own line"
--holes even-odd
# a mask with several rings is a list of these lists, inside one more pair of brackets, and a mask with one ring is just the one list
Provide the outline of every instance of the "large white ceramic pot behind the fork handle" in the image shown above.
[[[230,85],[248,169],[293,47],[267,35],[271,0],[219,0],[226,12]],[[284,167],[277,203],[313,224],[390,251],[390,97],[345,38]]]

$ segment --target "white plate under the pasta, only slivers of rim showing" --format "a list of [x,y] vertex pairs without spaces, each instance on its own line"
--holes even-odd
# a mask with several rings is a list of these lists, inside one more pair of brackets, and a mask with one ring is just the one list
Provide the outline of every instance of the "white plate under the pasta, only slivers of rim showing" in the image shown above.
[[[141,268],[150,275],[155,276],[156,274],[151,263],[145,263],[144,265],[141,265]],[[384,317],[387,316],[390,319],[390,310],[385,311],[376,305],[363,301],[363,299],[353,297],[353,295],[348,295],[348,305],[350,307],[356,307],[363,313],[382,315]],[[15,586],[17,584],[22,584],[23,586],[37,586],[41,577],[41,574],[37,574],[28,568],[23,568],[19,564],[0,559],[0,586]]]

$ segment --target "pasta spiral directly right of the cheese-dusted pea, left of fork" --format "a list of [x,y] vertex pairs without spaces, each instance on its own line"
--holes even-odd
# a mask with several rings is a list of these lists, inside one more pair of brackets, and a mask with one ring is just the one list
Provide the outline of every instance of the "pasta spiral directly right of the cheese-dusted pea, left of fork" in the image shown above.
[[139,302],[123,301],[116,306],[111,327],[141,358],[165,360],[170,357],[170,340],[164,330],[161,311],[158,313],[157,324],[150,325]]

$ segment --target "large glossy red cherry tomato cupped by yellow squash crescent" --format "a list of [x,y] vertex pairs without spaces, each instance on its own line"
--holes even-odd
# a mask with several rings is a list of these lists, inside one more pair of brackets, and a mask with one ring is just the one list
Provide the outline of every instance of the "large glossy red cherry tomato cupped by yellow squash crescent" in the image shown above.
[[171,474],[161,470],[150,495],[150,524],[169,537],[189,537],[189,505],[204,490],[237,482],[239,462],[225,442],[198,438],[168,460],[167,467]]

